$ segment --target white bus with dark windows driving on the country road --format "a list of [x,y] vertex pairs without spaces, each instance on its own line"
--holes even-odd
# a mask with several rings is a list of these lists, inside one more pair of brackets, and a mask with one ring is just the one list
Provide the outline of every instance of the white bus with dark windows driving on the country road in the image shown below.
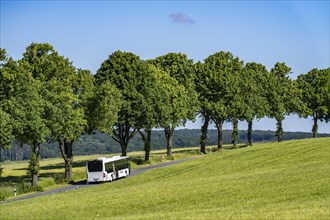
[[86,163],[87,184],[113,181],[131,173],[128,156],[100,157]]

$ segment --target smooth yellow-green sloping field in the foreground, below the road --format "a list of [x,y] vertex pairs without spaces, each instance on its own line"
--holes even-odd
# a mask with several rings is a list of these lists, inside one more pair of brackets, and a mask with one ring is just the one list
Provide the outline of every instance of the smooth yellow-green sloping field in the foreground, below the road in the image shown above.
[[224,150],[0,206],[1,219],[329,219],[330,139]]

